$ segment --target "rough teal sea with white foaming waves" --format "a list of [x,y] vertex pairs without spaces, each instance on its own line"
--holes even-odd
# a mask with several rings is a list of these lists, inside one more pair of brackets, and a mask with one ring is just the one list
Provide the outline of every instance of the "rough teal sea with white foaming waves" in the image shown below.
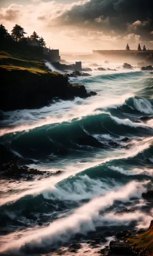
[[[0,143],[30,168],[61,172],[1,179],[1,255],[96,256],[114,232],[148,228],[153,210],[142,193],[153,184],[153,77],[103,63],[117,66],[70,78],[95,96],[4,113]],[[116,214],[125,208],[134,210]],[[105,242],[91,246],[99,234]],[[75,252],[71,244],[79,244]]]

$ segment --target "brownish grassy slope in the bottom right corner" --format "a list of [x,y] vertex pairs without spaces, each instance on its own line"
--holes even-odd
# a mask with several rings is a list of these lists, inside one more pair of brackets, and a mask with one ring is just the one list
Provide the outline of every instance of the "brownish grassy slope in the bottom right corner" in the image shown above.
[[127,241],[131,246],[139,247],[140,249],[147,250],[150,256],[153,256],[153,222],[147,231],[141,233],[137,237],[129,238]]

